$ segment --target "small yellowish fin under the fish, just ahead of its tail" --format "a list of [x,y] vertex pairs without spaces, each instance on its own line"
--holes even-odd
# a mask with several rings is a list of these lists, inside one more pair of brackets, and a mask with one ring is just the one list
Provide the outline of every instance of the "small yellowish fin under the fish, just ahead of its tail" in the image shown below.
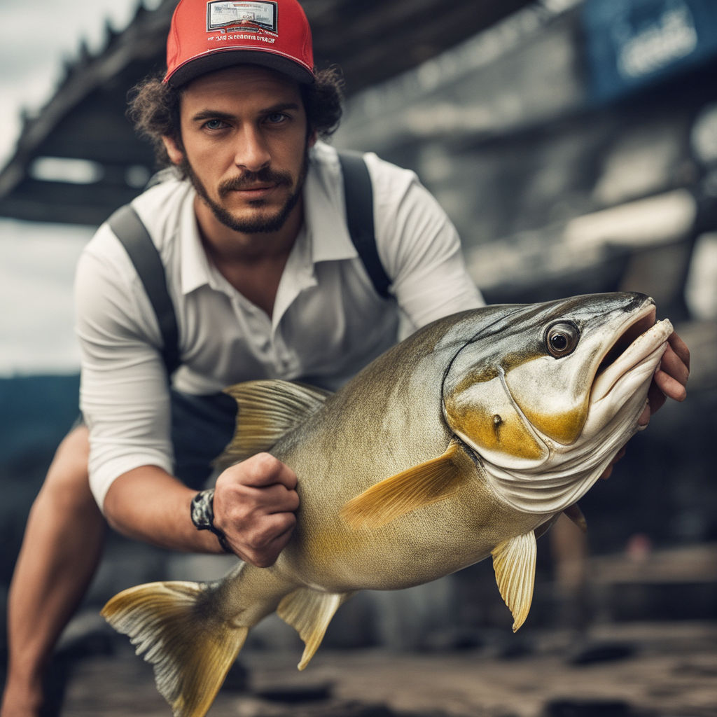
[[299,633],[304,641],[304,654],[298,668],[303,670],[314,656],[326,634],[333,614],[352,593],[317,592],[299,588],[285,596],[277,607],[277,615]]

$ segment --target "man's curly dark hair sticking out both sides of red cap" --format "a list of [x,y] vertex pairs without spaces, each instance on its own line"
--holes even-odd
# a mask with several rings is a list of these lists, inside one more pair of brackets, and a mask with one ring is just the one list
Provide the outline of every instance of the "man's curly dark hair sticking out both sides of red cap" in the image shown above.
[[[343,111],[343,77],[337,67],[315,72],[313,85],[300,85],[309,132],[320,138],[330,137],[338,128]],[[162,137],[171,137],[181,146],[179,100],[182,88],[162,82],[153,75],[130,90],[127,116],[137,132],[148,138],[159,167],[171,164]]]

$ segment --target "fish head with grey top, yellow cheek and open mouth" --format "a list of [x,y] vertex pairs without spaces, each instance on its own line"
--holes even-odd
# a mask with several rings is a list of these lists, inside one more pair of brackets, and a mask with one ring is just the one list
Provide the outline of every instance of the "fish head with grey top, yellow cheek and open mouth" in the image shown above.
[[639,429],[670,333],[637,293],[505,306],[453,357],[445,420],[508,503],[564,510]]

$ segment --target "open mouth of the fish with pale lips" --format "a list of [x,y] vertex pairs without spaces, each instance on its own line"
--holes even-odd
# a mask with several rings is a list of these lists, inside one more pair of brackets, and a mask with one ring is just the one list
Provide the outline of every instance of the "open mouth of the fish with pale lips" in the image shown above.
[[673,327],[668,319],[656,322],[655,313],[654,304],[645,306],[607,348],[595,373],[591,402],[606,397],[637,366],[654,364],[657,368]]

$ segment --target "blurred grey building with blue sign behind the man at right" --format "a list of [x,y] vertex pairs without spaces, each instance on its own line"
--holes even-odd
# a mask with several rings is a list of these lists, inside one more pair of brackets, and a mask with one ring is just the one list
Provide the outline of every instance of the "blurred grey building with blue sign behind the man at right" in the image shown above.
[[717,5],[551,6],[351,98],[336,142],[419,173],[491,302],[627,288],[681,317],[717,229]]

